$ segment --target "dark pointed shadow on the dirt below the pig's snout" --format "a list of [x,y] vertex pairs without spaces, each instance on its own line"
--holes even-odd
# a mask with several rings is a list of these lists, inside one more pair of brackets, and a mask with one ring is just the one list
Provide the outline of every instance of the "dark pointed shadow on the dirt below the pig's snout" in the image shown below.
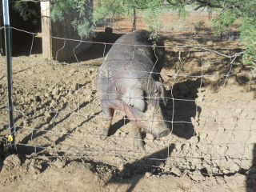
[[[118,183],[118,184],[130,184],[130,188],[126,192],[131,192],[134,190],[134,187],[138,184],[139,180],[146,174],[150,172],[151,174],[162,174],[163,170],[159,167],[161,164],[166,163],[166,159],[170,156],[172,151],[175,148],[175,144],[171,144],[163,150],[159,150],[154,154],[150,154],[145,158],[139,159],[138,161],[132,163],[126,163],[122,170],[118,170],[117,174],[113,176],[106,182],[106,185],[109,183]],[[125,178],[131,178],[137,175],[136,181],[130,182]]]

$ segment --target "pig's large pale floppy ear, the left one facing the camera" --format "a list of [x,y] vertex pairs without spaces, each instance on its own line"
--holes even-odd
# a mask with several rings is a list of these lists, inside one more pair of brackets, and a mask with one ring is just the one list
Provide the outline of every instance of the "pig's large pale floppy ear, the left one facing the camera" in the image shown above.
[[146,102],[143,98],[143,90],[138,87],[133,87],[128,90],[122,97],[122,102],[125,102],[127,106],[133,106],[139,111],[144,111],[146,108]]

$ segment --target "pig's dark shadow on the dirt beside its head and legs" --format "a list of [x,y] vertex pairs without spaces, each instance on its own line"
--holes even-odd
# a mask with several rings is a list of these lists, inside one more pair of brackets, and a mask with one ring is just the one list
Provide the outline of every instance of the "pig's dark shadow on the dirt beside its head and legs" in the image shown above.
[[[202,86],[200,78],[195,81],[178,82],[172,88],[172,94],[171,89],[167,90],[167,97],[169,98],[167,106],[161,104],[162,114],[167,126],[172,130],[172,134],[180,138],[190,139],[196,135],[191,118],[196,118],[197,112],[198,116],[201,113],[201,108],[195,104],[200,86]],[[129,122],[129,119],[123,118],[115,122],[110,128],[109,136],[115,134],[118,129]]]

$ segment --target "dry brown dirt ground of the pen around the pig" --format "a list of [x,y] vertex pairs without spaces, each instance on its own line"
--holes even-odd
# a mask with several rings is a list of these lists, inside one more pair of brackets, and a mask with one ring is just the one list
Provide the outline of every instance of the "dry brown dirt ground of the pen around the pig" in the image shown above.
[[[100,32],[94,41],[114,42],[128,32],[122,22],[113,25],[114,34]],[[102,109],[94,80],[110,45],[95,43],[62,63],[43,59],[36,44],[32,54],[25,45],[16,47],[18,151],[10,154],[6,58],[1,57],[1,190],[255,191],[255,78],[239,56],[232,61],[211,51],[173,47],[203,46],[226,55],[242,51],[234,36],[221,41],[191,23],[191,29],[175,33],[166,25],[161,33],[166,46],[161,74],[169,100],[162,111],[171,134],[160,140],[146,134],[146,153],[133,149],[131,123],[122,111],[114,114],[110,137],[98,138]]]

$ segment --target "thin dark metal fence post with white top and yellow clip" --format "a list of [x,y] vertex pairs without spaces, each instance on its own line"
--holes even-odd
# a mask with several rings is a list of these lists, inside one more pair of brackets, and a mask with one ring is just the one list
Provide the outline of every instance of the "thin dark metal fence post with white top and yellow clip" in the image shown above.
[[10,46],[10,19],[9,19],[9,1],[2,0],[3,24],[5,27],[5,44],[6,44],[6,65],[7,65],[7,90],[8,90],[8,110],[9,110],[9,128],[10,135],[8,141],[11,149],[16,152],[15,143],[15,126],[14,126],[14,109],[12,102],[12,69],[11,69],[11,46]]

